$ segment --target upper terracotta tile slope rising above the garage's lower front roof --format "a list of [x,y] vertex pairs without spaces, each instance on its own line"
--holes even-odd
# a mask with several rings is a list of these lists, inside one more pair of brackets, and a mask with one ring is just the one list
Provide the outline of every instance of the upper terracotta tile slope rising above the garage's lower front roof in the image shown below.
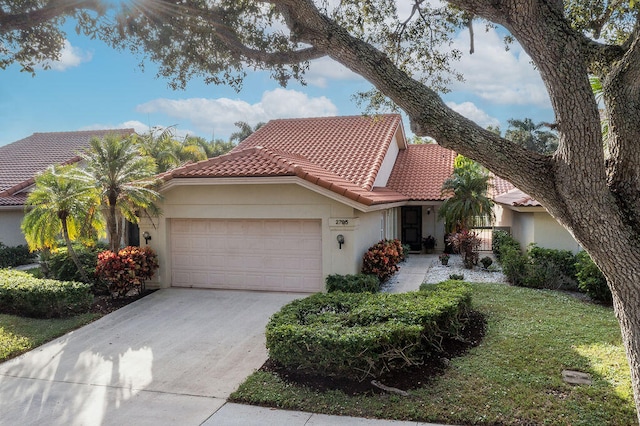
[[402,118],[398,114],[272,120],[234,151],[263,146],[295,153],[371,190],[399,128]]

